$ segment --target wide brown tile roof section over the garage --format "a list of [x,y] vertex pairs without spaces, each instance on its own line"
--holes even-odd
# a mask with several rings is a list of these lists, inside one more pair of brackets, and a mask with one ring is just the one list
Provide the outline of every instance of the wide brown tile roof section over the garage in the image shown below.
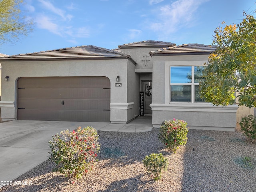
[[34,53],[18,54],[12,56],[5,56],[0,60],[45,60],[45,59],[107,59],[107,58],[131,58],[130,55],[122,52],[100,48],[92,45],[77,46],[70,48],[62,48],[49,51],[41,51]]

